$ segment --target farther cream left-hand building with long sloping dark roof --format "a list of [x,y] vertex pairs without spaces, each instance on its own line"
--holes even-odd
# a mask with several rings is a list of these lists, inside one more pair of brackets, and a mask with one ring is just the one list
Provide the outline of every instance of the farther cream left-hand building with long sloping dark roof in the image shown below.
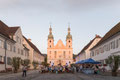
[[30,69],[33,69],[32,62],[38,62],[41,64],[44,62],[44,56],[41,54],[39,49],[31,42],[31,39],[27,39],[25,36],[23,36],[23,44],[29,49],[29,59],[30,59]]

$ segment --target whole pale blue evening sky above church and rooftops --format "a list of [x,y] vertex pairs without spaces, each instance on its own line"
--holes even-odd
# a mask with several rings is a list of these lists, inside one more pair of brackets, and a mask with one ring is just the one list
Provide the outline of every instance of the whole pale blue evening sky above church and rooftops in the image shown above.
[[68,23],[73,37],[73,53],[92,40],[103,37],[120,22],[120,0],[0,0],[0,20],[20,26],[22,33],[47,53],[51,24],[55,44],[66,44]]

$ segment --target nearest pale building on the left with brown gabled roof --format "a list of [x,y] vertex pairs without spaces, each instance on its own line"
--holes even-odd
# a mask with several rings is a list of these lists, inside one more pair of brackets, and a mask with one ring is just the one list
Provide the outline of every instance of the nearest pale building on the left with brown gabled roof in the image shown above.
[[12,68],[11,59],[28,59],[29,50],[23,46],[21,28],[9,27],[0,21],[0,71]]

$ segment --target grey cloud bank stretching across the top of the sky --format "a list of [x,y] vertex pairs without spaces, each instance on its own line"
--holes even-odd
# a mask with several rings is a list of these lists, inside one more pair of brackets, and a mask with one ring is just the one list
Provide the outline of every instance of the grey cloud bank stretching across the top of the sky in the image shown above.
[[111,6],[116,3],[120,3],[120,0],[0,0],[0,8],[72,13]]

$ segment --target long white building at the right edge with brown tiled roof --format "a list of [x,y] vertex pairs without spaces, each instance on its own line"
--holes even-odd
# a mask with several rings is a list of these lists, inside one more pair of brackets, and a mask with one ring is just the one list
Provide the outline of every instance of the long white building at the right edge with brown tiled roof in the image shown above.
[[120,55],[120,23],[107,32],[91,49],[91,58],[103,64],[110,55]]

